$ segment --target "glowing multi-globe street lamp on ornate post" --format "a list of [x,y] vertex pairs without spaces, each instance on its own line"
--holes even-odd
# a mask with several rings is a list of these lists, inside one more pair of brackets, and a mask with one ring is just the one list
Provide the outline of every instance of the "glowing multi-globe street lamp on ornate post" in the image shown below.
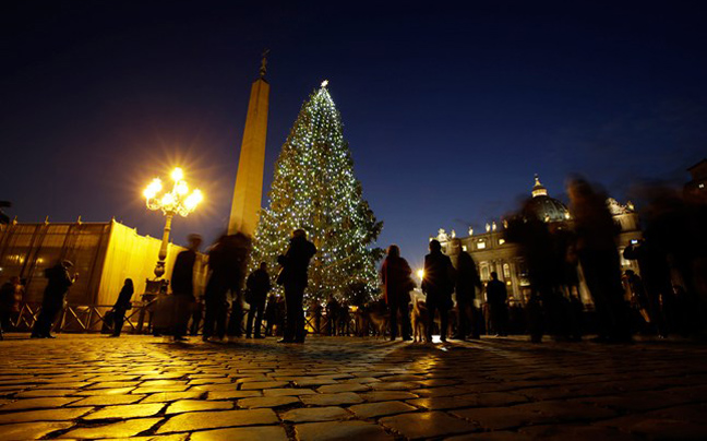
[[177,167],[172,170],[171,179],[175,181],[175,184],[169,192],[161,193],[163,183],[159,178],[153,179],[143,191],[147,208],[153,211],[161,210],[166,217],[163,242],[161,247],[159,247],[159,260],[157,261],[157,266],[155,266],[155,275],[158,278],[165,274],[167,242],[169,240],[169,231],[171,230],[172,217],[176,214],[187,217],[204,200],[201,190],[195,189],[191,193],[189,192],[189,186],[184,181],[184,172],[181,168]]

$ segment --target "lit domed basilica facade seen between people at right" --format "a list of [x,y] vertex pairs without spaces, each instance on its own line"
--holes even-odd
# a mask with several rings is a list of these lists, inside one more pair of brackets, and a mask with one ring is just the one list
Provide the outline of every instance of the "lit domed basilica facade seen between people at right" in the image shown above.
[[[528,210],[547,223],[560,223],[562,227],[572,228],[572,216],[566,205],[561,201],[551,198],[548,190],[540,183],[536,176],[535,186],[531,190],[531,200]],[[609,210],[614,223],[621,228],[616,238],[616,247],[621,259],[621,270],[633,270],[638,273],[638,265],[635,261],[623,259],[623,250],[640,238],[638,228],[638,215],[634,212],[631,203],[620,204],[614,199],[607,200]],[[454,230],[447,234],[440,229],[436,237],[442,243],[445,254],[450,255],[456,265],[456,258],[462,251],[466,251],[474,258],[479,270],[481,281],[486,284],[491,279],[491,273],[499,274],[499,279],[506,284],[508,300],[512,305],[524,305],[527,295],[530,293],[527,266],[517,243],[506,242],[504,238],[504,222],[488,223],[484,231],[478,234],[469,228],[467,236],[458,237]],[[591,303],[591,297],[584,283],[582,267],[578,266],[579,293],[576,293],[585,305]]]

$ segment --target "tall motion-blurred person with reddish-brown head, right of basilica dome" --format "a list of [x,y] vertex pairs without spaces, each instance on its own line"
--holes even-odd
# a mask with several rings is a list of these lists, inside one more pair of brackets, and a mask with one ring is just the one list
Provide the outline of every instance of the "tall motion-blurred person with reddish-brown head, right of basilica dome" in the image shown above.
[[607,206],[607,195],[582,179],[570,182],[567,192],[577,237],[577,255],[597,312],[597,341],[628,342],[628,314],[614,241],[619,227]]

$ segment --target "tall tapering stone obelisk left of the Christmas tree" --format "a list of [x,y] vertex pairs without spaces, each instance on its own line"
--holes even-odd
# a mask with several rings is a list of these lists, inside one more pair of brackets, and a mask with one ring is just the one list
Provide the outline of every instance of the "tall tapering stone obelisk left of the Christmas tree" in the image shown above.
[[233,189],[233,203],[228,222],[228,234],[244,233],[253,237],[257,226],[263,196],[263,168],[265,166],[265,136],[267,134],[267,107],[269,84],[265,81],[267,50],[263,52],[260,78],[251,87],[245,129],[238,159],[238,175]]

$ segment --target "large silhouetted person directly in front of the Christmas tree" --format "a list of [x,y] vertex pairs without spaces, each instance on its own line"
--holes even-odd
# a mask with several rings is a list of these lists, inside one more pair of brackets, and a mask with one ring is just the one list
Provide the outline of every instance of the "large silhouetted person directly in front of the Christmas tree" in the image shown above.
[[283,266],[277,279],[285,287],[285,301],[287,302],[285,337],[278,343],[304,343],[302,300],[308,283],[307,270],[315,253],[316,247],[307,240],[307,233],[303,229],[296,229],[292,231],[289,249],[285,255],[277,258],[277,263]]

